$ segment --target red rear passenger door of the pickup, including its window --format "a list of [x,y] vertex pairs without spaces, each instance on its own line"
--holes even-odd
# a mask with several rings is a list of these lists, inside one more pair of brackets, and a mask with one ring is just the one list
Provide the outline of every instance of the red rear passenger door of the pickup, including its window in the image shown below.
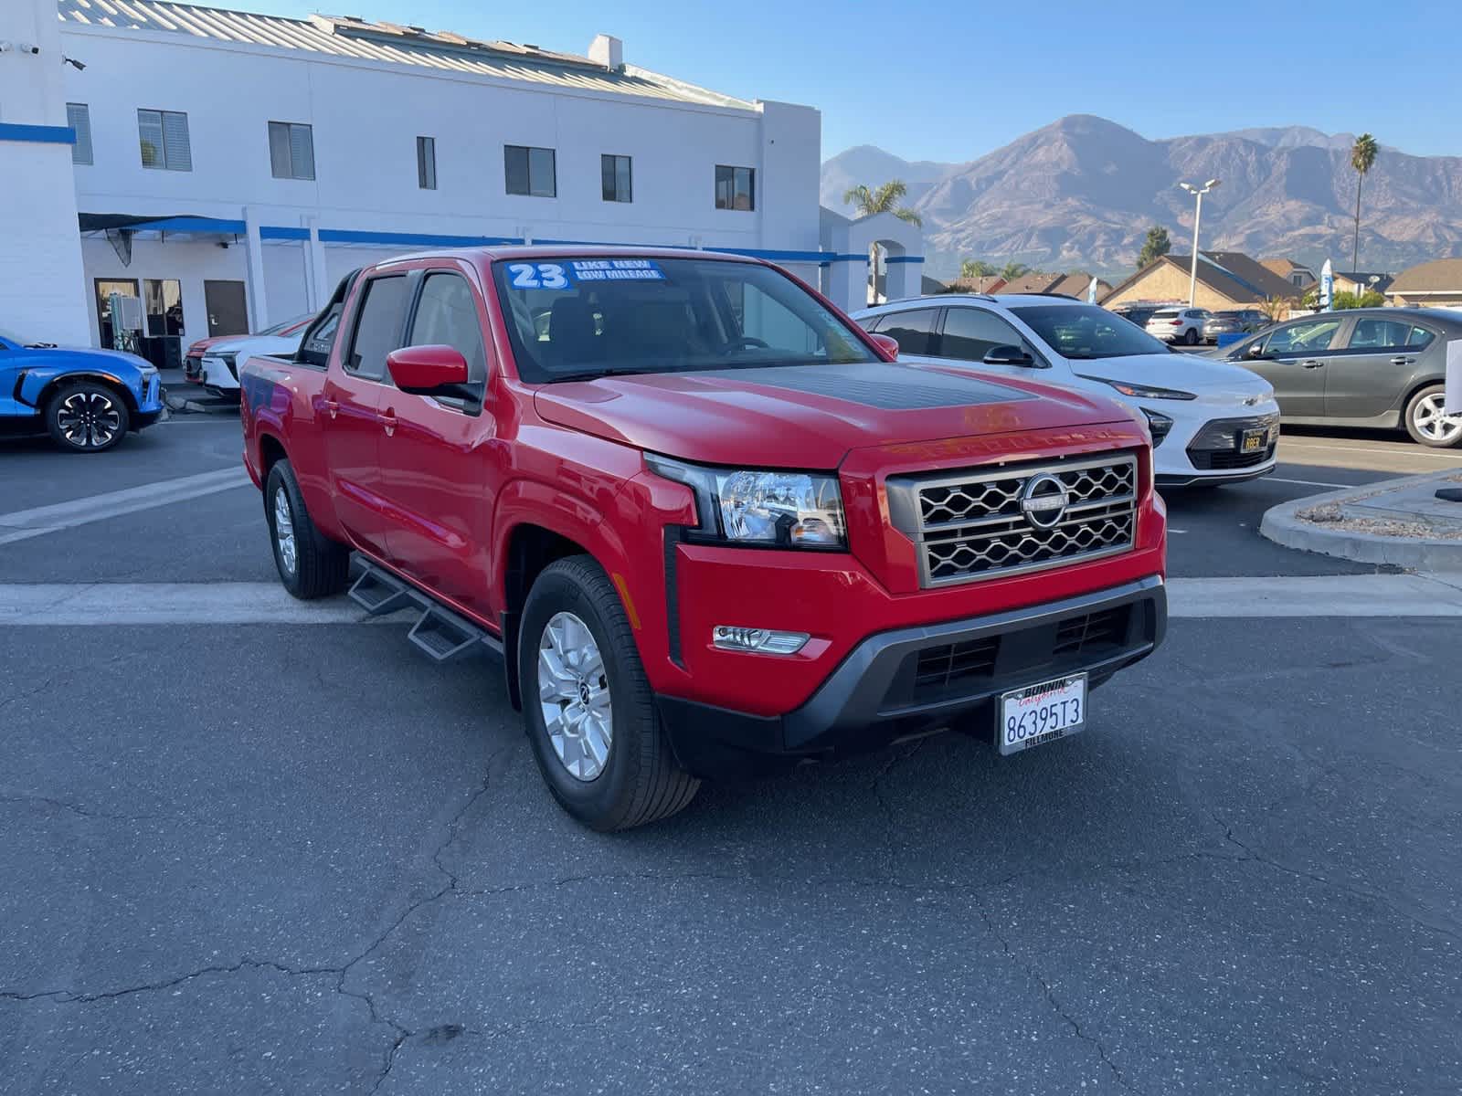
[[401,346],[406,276],[371,278],[360,291],[351,340],[320,389],[320,425],[335,513],[357,548],[387,558],[382,494],[382,406],[390,384],[386,355]]

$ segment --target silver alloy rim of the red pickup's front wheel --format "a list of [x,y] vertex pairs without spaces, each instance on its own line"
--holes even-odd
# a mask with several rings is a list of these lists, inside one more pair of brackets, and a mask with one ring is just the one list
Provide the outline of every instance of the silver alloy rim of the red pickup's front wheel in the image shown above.
[[589,625],[572,612],[554,614],[538,639],[538,704],[569,775],[598,777],[614,741],[610,681]]

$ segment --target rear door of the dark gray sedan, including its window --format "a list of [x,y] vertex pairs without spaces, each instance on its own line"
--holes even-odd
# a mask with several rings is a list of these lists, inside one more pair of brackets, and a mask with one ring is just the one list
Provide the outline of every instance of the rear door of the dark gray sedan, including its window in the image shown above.
[[1355,316],[1325,364],[1327,418],[1376,418],[1401,408],[1417,358],[1436,333],[1408,316]]

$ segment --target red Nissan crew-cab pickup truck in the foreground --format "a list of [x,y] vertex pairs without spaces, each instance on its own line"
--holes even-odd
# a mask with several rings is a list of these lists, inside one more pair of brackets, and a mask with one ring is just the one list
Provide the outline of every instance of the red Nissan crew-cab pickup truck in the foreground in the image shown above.
[[500,652],[595,829],[703,777],[934,728],[1086,725],[1167,623],[1146,427],[901,365],[763,262],[528,247],[377,263],[241,371],[244,460],[298,598]]

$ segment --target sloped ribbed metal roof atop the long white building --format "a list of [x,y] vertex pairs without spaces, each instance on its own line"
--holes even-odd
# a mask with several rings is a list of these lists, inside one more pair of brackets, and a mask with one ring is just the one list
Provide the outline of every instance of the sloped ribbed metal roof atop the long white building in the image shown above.
[[746,99],[721,95],[636,66],[626,64],[616,70],[588,57],[556,53],[538,45],[480,41],[450,31],[373,23],[355,16],[311,15],[306,19],[288,19],[161,0],[58,0],[57,15],[63,31],[70,26],[96,26],[171,32],[216,42],[304,50],[342,58],[411,64],[577,91],[754,110],[754,104]]

